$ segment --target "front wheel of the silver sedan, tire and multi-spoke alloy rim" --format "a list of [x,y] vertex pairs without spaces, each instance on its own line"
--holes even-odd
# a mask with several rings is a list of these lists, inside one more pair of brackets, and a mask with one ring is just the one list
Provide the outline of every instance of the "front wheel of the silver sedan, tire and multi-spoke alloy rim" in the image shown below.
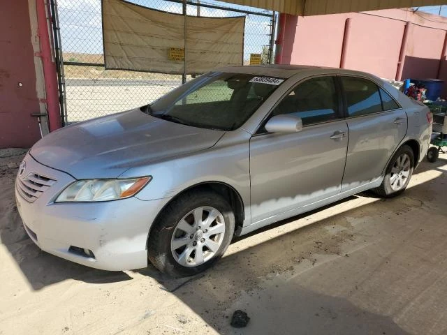
[[163,273],[192,276],[222,257],[234,230],[235,215],[225,198],[212,191],[185,193],[170,202],[154,223],[147,255]]

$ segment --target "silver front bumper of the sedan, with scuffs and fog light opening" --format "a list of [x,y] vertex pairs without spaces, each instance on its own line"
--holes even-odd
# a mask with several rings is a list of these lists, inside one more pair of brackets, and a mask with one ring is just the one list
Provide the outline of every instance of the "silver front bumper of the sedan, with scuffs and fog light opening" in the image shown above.
[[[54,203],[58,193],[75,179],[41,165],[29,154],[24,161],[26,171],[17,176],[15,184],[17,209],[29,237],[43,251],[96,269],[147,267],[149,229],[169,198]],[[30,173],[55,180],[34,202],[19,191],[20,179]],[[74,252],[77,248],[91,251],[94,257]]]

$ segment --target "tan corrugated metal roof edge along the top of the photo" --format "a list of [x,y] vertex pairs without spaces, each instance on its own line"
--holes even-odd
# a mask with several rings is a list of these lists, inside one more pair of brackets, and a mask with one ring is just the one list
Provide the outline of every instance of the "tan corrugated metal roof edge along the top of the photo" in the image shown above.
[[292,15],[323,15],[389,8],[446,5],[447,0],[221,0]]

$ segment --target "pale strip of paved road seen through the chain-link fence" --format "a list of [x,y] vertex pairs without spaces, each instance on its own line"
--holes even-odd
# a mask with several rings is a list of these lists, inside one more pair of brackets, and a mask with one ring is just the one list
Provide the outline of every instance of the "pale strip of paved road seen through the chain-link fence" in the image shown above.
[[182,80],[163,79],[87,79],[87,78],[66,78],[66,87],[71,86],[145,86],[159,85],[175,87],[182,84]]

